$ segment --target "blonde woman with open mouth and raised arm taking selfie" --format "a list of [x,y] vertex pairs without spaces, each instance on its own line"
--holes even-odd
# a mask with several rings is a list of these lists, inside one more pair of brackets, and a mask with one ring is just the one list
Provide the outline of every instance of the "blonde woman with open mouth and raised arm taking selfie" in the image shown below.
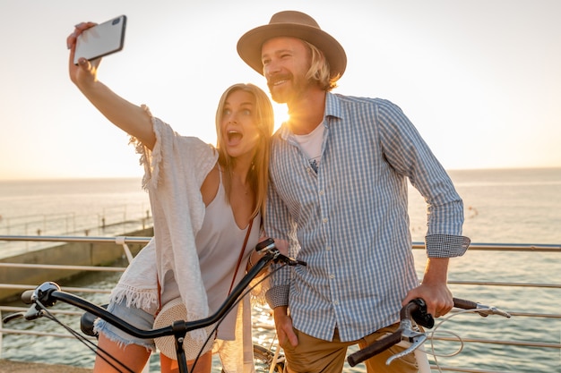
[[[220,98],[216,148],[179,136],[145,106],[135,106],[98,81],[100,59],[82,58],[73,64],[76,38],[93,25],[81,23],[67,38],[70,78],[101,114],[131,135],[145,168],[143,186],[149,191],[154,219],[154,239],[117,284],[108,309],[142,329],[151,328],[154,315],[160,309],[165,313],[177,301],[186,309],[186,319],[204,318],[218,309],[244,276],[249,257],[253,255],[252,263],[258,260],[252,249],[261,232],[267,189],[271,102],[254,85],[234,85]],[[225,351],[239,352],[240,343],[251,348],[247,311],[230,312],[220,323],[217,339],[235,341]],[[246,324],[241,332],[240,320]],[[153,341],[134,339],[104,322],[98,322],[96,329],[99,350],[115,358],[98,357],[96,372],[120,371],[116,361],[141,371],[155,348]],[[198,351],[206,336],[204,331],[192,332],[186,345]],[[177,369],[174,356],[175,352],[161,355],[162,372]],[[241,354],[229,360],[233,362],[222,359],[227,371],[252,369],[243,367]],[[210,351],[197,361],[194,371],[211,371]]]

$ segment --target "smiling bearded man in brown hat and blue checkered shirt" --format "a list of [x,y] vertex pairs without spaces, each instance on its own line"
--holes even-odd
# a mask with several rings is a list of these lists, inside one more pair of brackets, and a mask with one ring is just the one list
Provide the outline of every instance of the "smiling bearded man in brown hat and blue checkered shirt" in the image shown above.
[[[272,140],[265,229],[291,242],[307,267],[285,267],[267,300],[290,372],[341,372],[347,346],[398,327],[402,304],[453,307],[448,260],[463,255],[463,204],[419,132],[391,102],[334,95],[344,49],[304,13],[280,12],[243,35],[237,52],[286,103],[289,121]],[[411,253],[407,179],[427,200],[427,269]],[[395,347],[399,349],[400,347]],[[412,356],[368,372],[417,371]]]

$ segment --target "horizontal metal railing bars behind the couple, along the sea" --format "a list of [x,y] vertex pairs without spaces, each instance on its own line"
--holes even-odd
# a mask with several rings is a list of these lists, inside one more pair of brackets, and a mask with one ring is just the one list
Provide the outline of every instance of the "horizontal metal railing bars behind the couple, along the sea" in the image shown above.
[[[150,237],[64,237],[64,236],[8,236],[8,235],[0,235],[0,241],[42,241],[42,242],[107,242],[107,243],[117,243],[122,245],[123,250],[125,252],[126,258],[129,260],[133,259],[133,255],[129,250],[127,243],[146,243],[150,241]],[[424,250],[424,244],[420,242],[413,242],[413,249],[414,250]],[[561,262],[561,245],[548,245],[548,244],[496,244],[496,243],[472,243],[470,245],[470,252],[473,251],[505,251],[512,255],[518,255],[523,252],[541,252],[541,253],[551,253],[555,256],[555,259],[551,260],[551,265],[556,266],[556,264]],[[78,269],[81,271],[99,271],[99,272],[119,272],[125,271],[125,267],[89,267],[89,266],[57,266],[57,265],[44,265],[44,264],[22,264],[22,263],[0,263],[0,267],[33,267],[37,269],[47,268],[47,269]],[[522,279],[521,279],[522,280]],[[557,292],[561,290],[561,284],[555,283],[535,283],[535,282],[524,282],[524,281],[488,281],[482,280],[479,281],[478,279],[470,279],[470,280],[463,280],[463,281],[449,281],[451,287],[458,287],[458,286],[475,286],[475,287],[497,287],[497,288],[507,288],[507,289],[516,289],[516,288],[530,288],[530,289],[541,289],[544,291],[553,291]],[[33,289],[37,284],[0,284],[0,289],[2,288],[10,288],[10,289],[17,289],[21,290],[22,292],[25,290]],[[63,287],[63,290],[67,292],[109,292],[108,290],[100,290],[100,289],[91,289],[87,287]],[[499,291],[500,292],[500,291]],[[454,292],[455,293],[455,292]],[[558,295],[556,299],[558,299]],[[496,296],[496,299],[501,299],[500,295]],[[475,300],[477,301],[477,300]],[[531,305],[529,305],[531,307]],[[557,303],[557,312],[558,312],[558,303]],[[22,311],[25,310],[24,308],[18,307],[11,307],[4,304],[0,304],[0,316],[4,312],[15,312],[15,311]],[[508,309],[509,313],[513,317],[516,318],[532,318],[532,319],[561,319],[561,315],[555,312],[534,312],[532,310],[525,310],[521,309],[518,311],[512,311]],[[80,311],[56,311],[53,312],[62,312],[67,314],[73,314],[76,316],[82,315]],[[559,331],[557,331],[558,333]],[[2,335],[3,334],[26,334],[26,335],[53,335],[53,334],[44,334],[40,332],[34,332],[33,330],[15,330],[10,328],[5,328],[4,325],[0,325],[0,343],[2,343]],[[69,335],[58,335],[56,337],[72,337]],[[561,335],[559,335],[561,338]],[[446,338],[446,337],[437,337],[436,339],[440,339],[443,341],[446,340],[453,340],[453,338]],[[561,353],[561,341],[559,343],[555,342],[542,342],[542,341],[532,341],[532,340],[496,340],[496,339],[487,339],[487,338],[463,338],[463,343],[483,343],[483,344],[490,344],[490,345],[498,345],[498,346],[518,346],[521,348],[529,348],[529,349],[551,349],[557,350]],[[2,352],[2,346],[0,345],[0,353]],[[452,368],[452,367],[440,367],[443,371],[453,371],[453,372],[474,372],[474,373],[499,373],[496,370],[479,370],[479,369],[467,369],[467,368]]]

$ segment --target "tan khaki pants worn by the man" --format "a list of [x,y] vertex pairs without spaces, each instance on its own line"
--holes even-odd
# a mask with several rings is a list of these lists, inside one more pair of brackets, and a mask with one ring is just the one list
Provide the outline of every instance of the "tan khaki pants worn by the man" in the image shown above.
[[[351,342],[341,342],[337,329],[335,329],[332,342],[305,335],[295,329],[294,332],[298,336],[298,346],[292,347],[288,342],[286,343],[288,345],[281,346],[287,359],[285,372],[341,373],[347,358],[347,347],[353,344],[365,347],[380,339],[386,333],[392,333],[398,326],[399,324],[386,326],[358,341]],[[367,366],[367,373],[416,373],[418,371],[417,361],[412,353],[401,359],[393,360],[390,366],[385,365],[385,360],[401,351],[403,351],[402,347],[393,346],[366,360],[364,363]]]

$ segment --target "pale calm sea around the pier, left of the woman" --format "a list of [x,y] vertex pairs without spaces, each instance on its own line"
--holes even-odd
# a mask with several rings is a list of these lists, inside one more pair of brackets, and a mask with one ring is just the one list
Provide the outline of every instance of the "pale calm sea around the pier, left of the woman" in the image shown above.
[[[151,225],[140,178],[0,181],[0,235],[111,236]],[[41,242],[2,242],[0,258]]]

